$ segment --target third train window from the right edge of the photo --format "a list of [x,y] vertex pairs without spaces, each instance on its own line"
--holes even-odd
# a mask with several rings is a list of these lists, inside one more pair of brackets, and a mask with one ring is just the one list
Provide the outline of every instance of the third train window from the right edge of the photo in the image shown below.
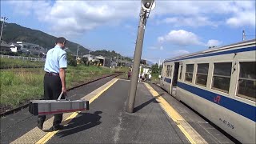
[[195,82],[196,84],[206,86],[208,69],[209,69],[208,63],[198,64],[198,73],[197,73],[196,82]]

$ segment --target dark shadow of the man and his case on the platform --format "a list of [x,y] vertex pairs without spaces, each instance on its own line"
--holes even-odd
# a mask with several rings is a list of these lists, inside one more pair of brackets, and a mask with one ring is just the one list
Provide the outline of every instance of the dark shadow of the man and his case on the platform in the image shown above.
[[102,114],[102,111],[95,111],[94,114],[80,113],[65,126],[64,130],[59,131],[56,135],[62,138],[97,126],[102,123],[100,121],[102,117],[99,114]]

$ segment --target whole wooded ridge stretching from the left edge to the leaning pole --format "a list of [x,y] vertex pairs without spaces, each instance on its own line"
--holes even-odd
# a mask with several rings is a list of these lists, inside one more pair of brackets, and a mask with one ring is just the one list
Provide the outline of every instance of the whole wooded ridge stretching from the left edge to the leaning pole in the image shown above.
[[[46,34],[40,30],[32,30],[30,28],[20,26],[16,23],[7,23],[5,22],[6,27],[4,28],[2,32],[2,40],[9,43],[9,42],[29,42],[38,44],[39,46],[42,46],[44,48],[47,48],[48,50],[52,47],[54,47],[54,42],[56,37]],[[2,26],[2,22],[1,25]],[[67,52],[70,52],[72,54],[76,54],[78,43],[74,42],[67,42],[66,47],[69,49],[66,50]],[[86,49],[83,46],[79,46],[79,53],[78,55],[85,55],[88,54],[89,50]],[[93,54],[95,56],[102,55],[106,58],[112,58],[112,60],[115,59],[122,59],[131,61],[131,58],[123,57],[121,54],[116,53],[114,50],[95,50],[91,51],[90,54]]]

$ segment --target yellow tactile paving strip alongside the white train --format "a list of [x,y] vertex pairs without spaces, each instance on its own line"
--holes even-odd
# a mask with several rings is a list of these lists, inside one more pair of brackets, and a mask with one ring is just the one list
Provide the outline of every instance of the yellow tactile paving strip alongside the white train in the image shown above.
[[190,143],[207,143],[204,138],[158,92],[156,92],[149,84],[144,83],[146,88],[150,91],[150,94],[158,101],[163,110],[166,111],[166,114],[176,122],[178,128],[190,141]]

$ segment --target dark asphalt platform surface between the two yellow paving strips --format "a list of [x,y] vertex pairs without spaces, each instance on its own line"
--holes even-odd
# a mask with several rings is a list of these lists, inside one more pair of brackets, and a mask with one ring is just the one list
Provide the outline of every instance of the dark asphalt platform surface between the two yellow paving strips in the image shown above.
[[142,83],[138,84],[136,113],[126,113],[129,84],[116,82],[49,143],[188,143]]

